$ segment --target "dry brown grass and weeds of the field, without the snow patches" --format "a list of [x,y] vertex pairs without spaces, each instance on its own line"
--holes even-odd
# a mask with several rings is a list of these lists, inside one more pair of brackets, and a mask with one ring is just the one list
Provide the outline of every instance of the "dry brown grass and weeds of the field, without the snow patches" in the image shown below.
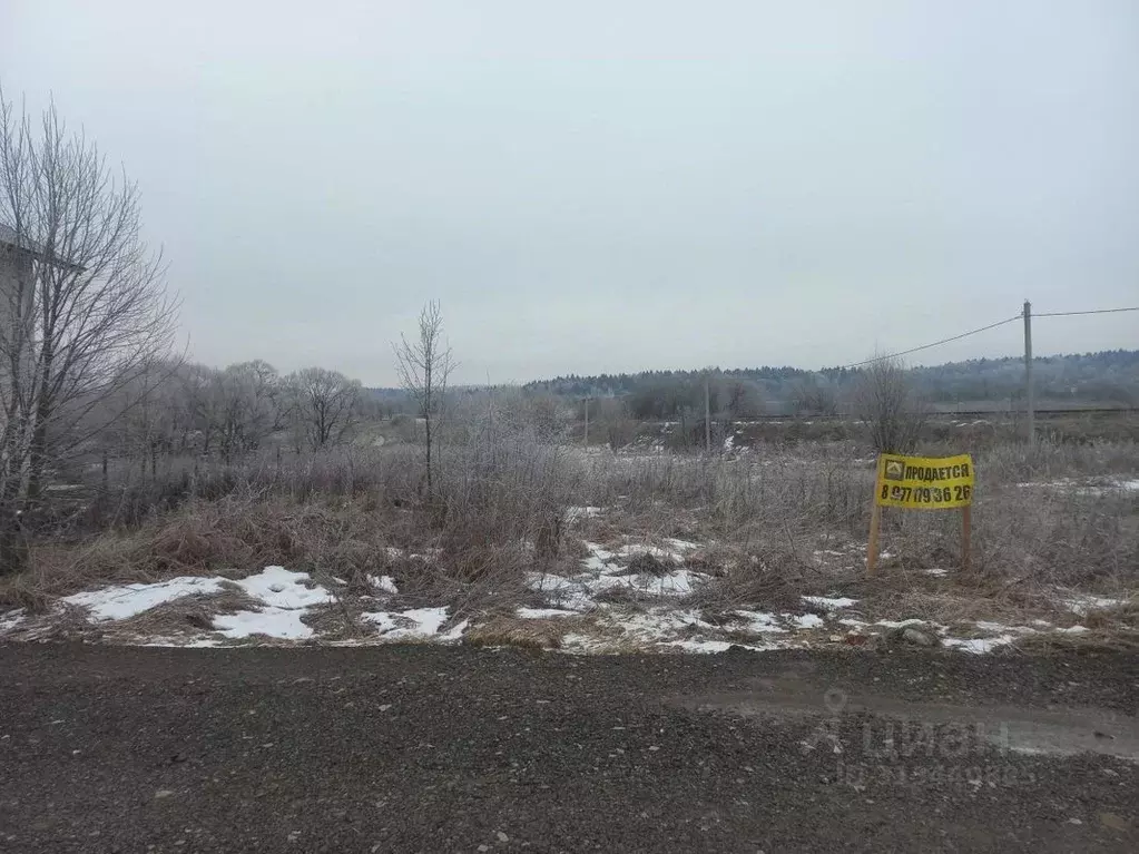
[[[956,570],[957,514],[887,512],[883,548],[893,557],[883,561],[880,578],[866,582],[858,550],[866,542],[872,471],[869,450],[853,442],[761,444],[730,458],[630,457],[559,447],[525,426],[485,418],[452,425],[448,441],[431,501],[420,491],[418,449],[409,446],[279,467],[261,460],[224,474],[178,473],[165,486],[151,485],[150,498],[165,495],[161,501],[147,504],[132,493],[129,511],[104,512],[113,524],[96,535],[33,543],[31,569],[0,580],[0,608],[36,611],[56,597],[103,584],[232,577],[277,564],[310,572],[330,590],[338,589],[326,581],[330,576],[346,580],[344,603],[313,618],[330,626],[338,621],[350,632],[351,602],[375,592],[371,575],[395,578],[400,596],[391,609],[506,611],[538,603],[527,573],[580,572],[582,539],[699,541],[686,565],[711,580],[674,601],[711,610],[802,613],[801,593],[841,591],[882,617],[1015,624],[1056,611],[1048,598],[1056,585],[1113,593],[1139,584],[1134,493],[1018,485],[1134,476],[1134,443],[986,446],[976,457],[973,576],[916,573]],[[606,511],[576,520],[567,533],[565,509],[572,504]],[[820,559],[819,550],[828,549],[838,557]],[[637,560],[633,572],[670,568]],[[1130,617],[1104,619],[1120,625]],[[486,637],[517,634],[525,643],[526,631],[547,631],[495,621]]]

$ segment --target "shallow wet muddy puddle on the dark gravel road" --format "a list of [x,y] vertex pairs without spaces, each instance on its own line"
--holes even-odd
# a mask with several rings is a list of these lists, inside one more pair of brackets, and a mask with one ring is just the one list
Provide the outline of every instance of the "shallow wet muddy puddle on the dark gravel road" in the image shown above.
[[677,697],[670,703],[740,717],[836,717],[863,712],[911,724],[967,726],[970,732],[984,733],[993,746],[1016,753],[1095,753],[1139,763],[1139,720],[1097,708],[908,703],[870,692],[819,689],[801,678],[756,680],[752,690]]

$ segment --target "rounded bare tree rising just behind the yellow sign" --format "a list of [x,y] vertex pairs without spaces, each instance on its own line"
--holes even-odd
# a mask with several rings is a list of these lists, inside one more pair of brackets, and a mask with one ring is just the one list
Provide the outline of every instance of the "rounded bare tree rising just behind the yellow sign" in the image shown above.
[[851,403],[855,417],[870,428],[870,441],[878,453],[913,450],[926,409],[901,361],[882,359],[865,368],[854,384]]

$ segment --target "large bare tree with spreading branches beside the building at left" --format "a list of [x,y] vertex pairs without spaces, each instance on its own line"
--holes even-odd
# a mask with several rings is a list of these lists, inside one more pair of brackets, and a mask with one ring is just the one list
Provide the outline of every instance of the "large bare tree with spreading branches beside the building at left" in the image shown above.
[[108,397],[151,391],[177,313],[163,271],[137,184],[54,105],[36,125],[0,91],[0,572],[47,468],[106,426]]

